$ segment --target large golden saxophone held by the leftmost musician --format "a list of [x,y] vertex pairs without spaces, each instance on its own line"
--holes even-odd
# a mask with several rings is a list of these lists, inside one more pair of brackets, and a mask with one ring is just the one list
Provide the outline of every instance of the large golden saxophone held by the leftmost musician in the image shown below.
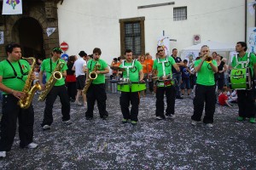
[[25,97],[20,99],[18,102],[18,105],[20,105],[20,108],[27,109],[31,105],[32,99],[35,93],[37,92],[37,90],[41,90],[41,86],[38,82],[36,82],[35,85],[32,86],[32,73],[33,73],[34,66],[36,65],[36,59],[33,57],[29,57],[29,58],[22,57],[22,59],[26,59],[26,60],[32,59],[31,69],[27,75],[25,86],[22,90],[22,92],[25,93]]

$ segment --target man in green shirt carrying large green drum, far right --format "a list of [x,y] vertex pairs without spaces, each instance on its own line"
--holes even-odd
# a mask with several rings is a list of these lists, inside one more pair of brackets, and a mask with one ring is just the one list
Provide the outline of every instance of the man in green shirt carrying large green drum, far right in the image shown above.
[[[255,54],[246,53],[247,43],[246,42],[237,42],[236,43],[236,52],[238,53],[232,59],[233,68],[246,68],[249,67],[252,78],[255,77],[256,71],[256,57]],[[248,56],[249,55],[249,56]],[[254,83],[253,83],[254,84]],[[254,88],[254,85],[253,85]],[[237,104],[238,104],[238,121],[245,120],[246,117],[250,118],[251,123],[255,123],[255,110],[254,110],[254,98],[253,98],[253,89],[248,90],[236,90],[237,92]]]

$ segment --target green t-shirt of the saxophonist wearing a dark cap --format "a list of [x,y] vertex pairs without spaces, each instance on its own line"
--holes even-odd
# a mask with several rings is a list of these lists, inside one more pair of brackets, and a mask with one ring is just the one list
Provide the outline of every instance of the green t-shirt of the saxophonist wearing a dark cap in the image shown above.
[[[51,62],[50,62],[51,61]],[[51,74],[52,74],[52,71],[54,71],[55,70],[55,67],[56,67],[56,65],[59,63],[59,62],[64,62],[65,63],[65,65],[63,66],[63,68],[61,69],[61,72],[62,71],[67,71],[67,63],[66,63],[66,61],[65,60],[63,60],[63,59],[58,59],[57,61],[55,61],[55,62],[53,62],[53,60],[52,59],[44,59],[43,60],[43,62],[42,62],[42,64],[41,64],[41,71],[45,71],[46,72],[46,81],[48,82],[48,80],[49,80],[49,77],[51,76]],[[51,70],[50,70],[50,65],[52,65],[51,66]],[[61,78],[61,80],[57,80],[56,82],[55,82],[55,85],[54,86],[62,86],[62,85],[64,85],[65,84],[65,77],[62,77]]]

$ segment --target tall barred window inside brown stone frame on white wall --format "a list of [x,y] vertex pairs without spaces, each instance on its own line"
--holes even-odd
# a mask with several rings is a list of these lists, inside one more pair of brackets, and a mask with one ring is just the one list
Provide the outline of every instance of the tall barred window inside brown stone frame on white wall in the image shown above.
[[140,22],[125,23],[125,48],[133,54],[142,54]]

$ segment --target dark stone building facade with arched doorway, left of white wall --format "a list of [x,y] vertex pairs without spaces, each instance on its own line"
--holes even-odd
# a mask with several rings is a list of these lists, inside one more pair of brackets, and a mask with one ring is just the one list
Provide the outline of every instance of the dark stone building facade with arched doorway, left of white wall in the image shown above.
[[[6,58],[5,45],[18,42],[24,57],[48,58],[51,49],[59,46],[57,3],[63,0],[23,0],[22,14],[2,15],[3,1],[0,0],[0,31],[4,44],[0,44],[0,60]],[[47,28],[55,31],[48,37]]]

